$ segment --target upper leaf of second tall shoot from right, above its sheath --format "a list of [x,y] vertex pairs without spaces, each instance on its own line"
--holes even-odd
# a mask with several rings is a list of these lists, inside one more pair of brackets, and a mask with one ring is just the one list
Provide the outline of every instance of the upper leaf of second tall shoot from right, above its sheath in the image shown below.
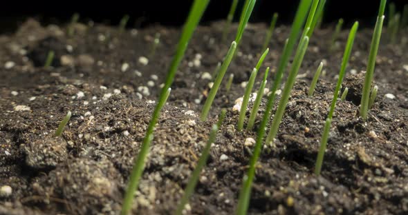
[[344,74],[346,74],[346,67],[349,63],[351,49],[353,48],[355,34],[358,29],[358,21],[356,21],[349,32],[349,39],[347,39],[346,49],[344,50],[342,67],[340,68],[339,78],[337,79],[337,85],[335,91],[333,92],[333,101],[331,101],[330,112],[328,112],[328,118],[332,119],[335,105],[337,102],[337,97],[339,96],[340,88],[342,87]]

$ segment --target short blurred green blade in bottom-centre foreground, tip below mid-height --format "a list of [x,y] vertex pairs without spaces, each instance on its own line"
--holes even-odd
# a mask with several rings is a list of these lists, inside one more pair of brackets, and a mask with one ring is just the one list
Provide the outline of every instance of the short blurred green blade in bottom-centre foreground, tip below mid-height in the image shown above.
[[200,158],[198,158],[197,165],[194,168],[192,176],[189,178],[187,186],[185,187],[183,197],[181,198],[180,203],[178,204],[178,207],[176,209],[176,212],[174,212],[174,215],[183,214],[183,209],[185,205],[187,204],[190,196],[192,196],[194,192],[194,188],[196,187],[198,178],[200,177],[201,170],[203,170],[205,163],[207,163],[207,158],[210,155],[211,145],[216,140],[216,133],[218,132],[218,130],[219,130],[219,127],[217,125],[212,126],[212,130],[210,132],[210,139],[208,139],[207,144],[205,145]]

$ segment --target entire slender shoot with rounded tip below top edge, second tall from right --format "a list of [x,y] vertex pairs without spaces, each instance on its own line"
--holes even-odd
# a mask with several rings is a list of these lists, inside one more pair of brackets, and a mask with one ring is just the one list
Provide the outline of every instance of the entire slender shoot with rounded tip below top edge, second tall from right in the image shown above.
[[[340,88],[343,82],[344,74],[346,74],[346,67],[349,63],[351,49],[353,48],[353,43],[355,39],[355,33],[358,29],[358,22],[356,21],[349,33],[349,39],[347,39],[346,49],[344,50],[342,67],[340,68],[339,78],[337,79],[337,85],[335,91],[333,92],[333,100],[331,101],[330,110],[327,115],[326,124],[324,125],[322,139],[320,139],[319,152],[317,153],[316,164],[315,164],[315,174],[319,176],[320,171],[322,170],[324,152],[326,150],[328,133],[330,132],[331,121],[333,119],[333,113],[335,110],[335,105],[337,102],[337,97],[340,93]],[[345,97],[345,96],[344,96]]]

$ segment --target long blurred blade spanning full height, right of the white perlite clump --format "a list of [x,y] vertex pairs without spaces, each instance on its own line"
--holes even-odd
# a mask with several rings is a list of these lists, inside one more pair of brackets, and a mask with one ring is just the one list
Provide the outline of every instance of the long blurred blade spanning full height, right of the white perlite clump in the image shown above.
[[[248,172],[243,176],[243,184],[239,192],[238,207],[235,211],[235,213],[238,215],[245,215],[247,213],[250,196],[251,196],[252,181],[255,176],[255,165],[257,164],[259,155],[261,154],[263,135],[265,134],[265,128],[269,121],[273,101],[275,100],[275,92],[277,89],[277,85],[279,85],[281,76],[284,70],[286,69],[286,65],[288,64],[289,57],[293,52],[293,47],[295,46],[295,41],[297,40],[297,37],[299,37],[299,33],[301,31],[302,25],[304,24],[306,14],[308,12],[308,9],[310,8],[311,3],[312,3],[311,0],[300,1],[299,8],[297,9],[297,12],[295,15],[295,20],[293,21],[293,25],[290,30],[289,39],[286,41],[282,57],[279,61],[279,66],[277,70],[278,71],[277,79],[275,79],[275,83],[273,83],[272,85],[272,93],[268,97],[268,103],[266,105],[266,110],[265,110],[265,113],[263,114],[261,125],[259,126],[259,130],[257,134],[257,141],[255,142],[255,145],[254,145],[254,152],[252,153],[252,156],[250,158],[250,165],[248,168]],[[275,90],[273,90],[273,88],[275,88]]]

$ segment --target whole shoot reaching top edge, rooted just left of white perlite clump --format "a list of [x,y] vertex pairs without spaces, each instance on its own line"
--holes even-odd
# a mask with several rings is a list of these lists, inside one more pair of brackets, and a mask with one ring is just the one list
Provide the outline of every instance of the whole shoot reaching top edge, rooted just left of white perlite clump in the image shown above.
[[210,112],[210,108],[211,108],[212,102],[214,101],[216,92],[218,91],[221,81],[223,81],[225,72],[227,72],[228,66],[230,66],[232,58],[235,55],[235,51],[237,50],[237,45],[241,41],[243,31],[245,30],[245,26],[248,23],[248,20],[250,19],[250,15],[252,13],[252,10],[254,9],[255,2],[256,0],[247,0],[245,2],[245,6],[241,14],[241,21],[239,23],[237,36],[235,37],[235,41],[232,42],[230,46],[230,50],[228,50],[227,52],[227,55],[225,55],[225,59],[223,63],[221,64],[221,68],[218,74],[216,75],[214,84],[212,85],[212,88],[210,90],[210,93],[208,94],[207,100],[204,103],[203,110],[201,111],[201,116],[200,116],[201,121],[207,120],[208,112]]

